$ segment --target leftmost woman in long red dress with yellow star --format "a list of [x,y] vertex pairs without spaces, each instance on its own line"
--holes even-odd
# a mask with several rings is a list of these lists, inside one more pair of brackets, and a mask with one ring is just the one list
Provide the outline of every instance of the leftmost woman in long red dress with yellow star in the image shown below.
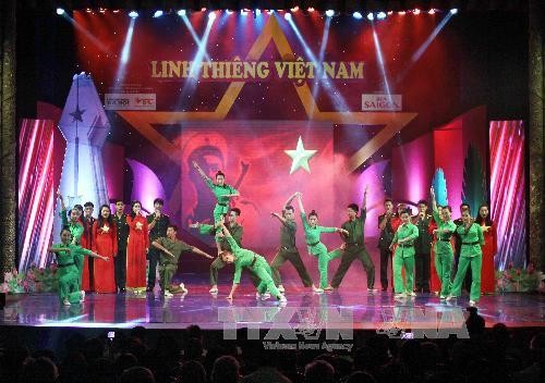
[[[112,258],[118,255],[118,231],[108,205],[100,207],[98,219],[93,224],[93,251],[107,254]],[[95,291],[116,293],[114,262],[97,263],[94,268]]]

